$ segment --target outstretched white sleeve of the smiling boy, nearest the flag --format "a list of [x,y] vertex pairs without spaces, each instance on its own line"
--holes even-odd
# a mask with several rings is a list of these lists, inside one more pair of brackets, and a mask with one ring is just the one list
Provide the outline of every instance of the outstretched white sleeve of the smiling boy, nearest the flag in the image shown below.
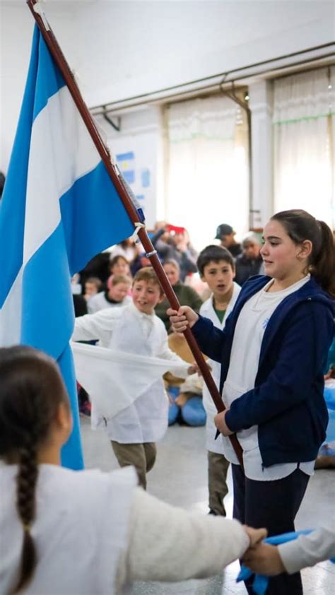
[[75,319],[72,341],[91,341],[99,339],[107,347],[115,321],[120,317],[122,308],[106,308],[95,314],[86,314]]

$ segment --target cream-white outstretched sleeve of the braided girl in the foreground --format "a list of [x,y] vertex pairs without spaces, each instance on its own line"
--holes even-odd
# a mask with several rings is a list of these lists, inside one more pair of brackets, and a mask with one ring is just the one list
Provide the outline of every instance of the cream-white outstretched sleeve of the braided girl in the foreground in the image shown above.
[[242,525],[201,516],[136,488],[130,517],[130,580],[182,581],[216,575],[249,546]]

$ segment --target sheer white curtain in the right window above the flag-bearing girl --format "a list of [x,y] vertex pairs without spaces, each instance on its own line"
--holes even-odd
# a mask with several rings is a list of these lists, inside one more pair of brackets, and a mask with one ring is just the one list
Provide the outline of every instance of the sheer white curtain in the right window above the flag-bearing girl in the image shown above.
[[274,82],[275,211],[305,208],[334,228],[335,68]]

